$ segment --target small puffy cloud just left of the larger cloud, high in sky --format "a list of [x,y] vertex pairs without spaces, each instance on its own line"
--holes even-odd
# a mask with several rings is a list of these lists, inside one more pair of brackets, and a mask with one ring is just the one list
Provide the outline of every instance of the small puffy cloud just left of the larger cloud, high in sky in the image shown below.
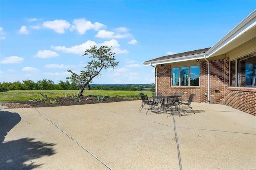
[[43,22],[43,26],[53,29],[57,33],[63,34],[65,32],[64,29],[69,28],[70,24],[66,20],[54,20]]

